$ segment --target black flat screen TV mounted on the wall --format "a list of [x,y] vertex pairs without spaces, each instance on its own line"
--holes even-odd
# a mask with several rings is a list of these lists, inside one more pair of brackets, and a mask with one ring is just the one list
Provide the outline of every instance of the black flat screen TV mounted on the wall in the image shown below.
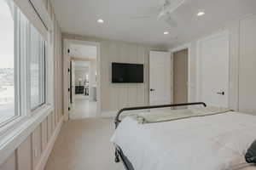
[[112,63],[112,82],[143,83],[143,65]]

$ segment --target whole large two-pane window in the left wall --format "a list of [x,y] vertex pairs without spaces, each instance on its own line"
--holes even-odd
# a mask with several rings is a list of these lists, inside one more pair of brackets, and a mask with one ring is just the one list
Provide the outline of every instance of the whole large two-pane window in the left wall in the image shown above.
[[45,103],[45,45],[10,0],[0,0],[0,127]]

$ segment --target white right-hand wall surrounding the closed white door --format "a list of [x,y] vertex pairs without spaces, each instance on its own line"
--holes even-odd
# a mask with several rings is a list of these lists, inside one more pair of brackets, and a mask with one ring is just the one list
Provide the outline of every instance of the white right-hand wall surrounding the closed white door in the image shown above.
[[[253,64],[251,66],[245,65],[245,63],[255,63],[254,59],[256,56],[255,49],[255,39],[256,31],[252,30],[256,26],[256,15],[250,15],[247,18],[241,20],[233,21],[219,31],[228,30],[230,34],[230,97],[229,97],[229,107],[235,111],[245,111],[253,113],[256,112],[256,108],[252,103],[256,98],[256,89],[252,88],[249,84],[253,84],[256,87],[256,82],[252,82],[256,79],[254,73],[256,72],[256,66]],[[214,33],[217,33],[216,31]],[[203,37],[199,37],[201,39]],[[189,44],[189,79],[191,82],[190,88],[190,101],[197,101],[196,92],[196,79],[197,79],[197,41],[187,42]],[[183,47],[184,45],[177,45],[175,48]],[[248,55],[249,54],[249,55]],[[246,55],[246,56],[245,56]],[[253,59],[251,62],[248,59]],[[252,72],[252,77],[246,76],[249,72]],[[242,76],[241,76],[242,75]],[[249,82],[249,83],[248,83]],[[251,83],[250,83],[251,82]],[[249,88],[249,89],[248,89]],[[247,93],[245,93],[247,92]],[[255,94],[253,96],[253,94]],[[249,98],[250,99],[249,99]],[[251,102],[248,102],[251,101]],[[246,109],[249,108],[249,109]],[[248,111],[249,110],[249,111]]]

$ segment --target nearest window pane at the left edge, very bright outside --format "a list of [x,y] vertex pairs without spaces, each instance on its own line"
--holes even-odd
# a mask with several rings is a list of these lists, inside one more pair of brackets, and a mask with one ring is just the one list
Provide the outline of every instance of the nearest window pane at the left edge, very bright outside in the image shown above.
[[15,111],[15,13],[8,1],[0,1],[0,123]]

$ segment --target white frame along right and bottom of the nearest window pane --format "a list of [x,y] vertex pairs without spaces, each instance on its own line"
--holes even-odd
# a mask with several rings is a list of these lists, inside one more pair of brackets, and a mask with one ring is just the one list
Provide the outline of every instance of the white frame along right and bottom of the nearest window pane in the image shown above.
[[[26,121],[26,74],[24,74],[26,68],[26,47],[25,43],[21,41],[26,41],[24,37],[27,36],[27,30],[21,26],[21,11],[14,5],[14,26],[15,26],[15,48],[14,48],[14,84],[15,84],[15,116],[12,116],[8,120],[0,123],[0,136],[7,133],[9,130],[12,130],[17,125],[20,125],[22,122]],[[23,23],[24,24],[24,23]],[[22,35],[22,31],[25,35]],[[22,47],[21,47],[22,46]]]

